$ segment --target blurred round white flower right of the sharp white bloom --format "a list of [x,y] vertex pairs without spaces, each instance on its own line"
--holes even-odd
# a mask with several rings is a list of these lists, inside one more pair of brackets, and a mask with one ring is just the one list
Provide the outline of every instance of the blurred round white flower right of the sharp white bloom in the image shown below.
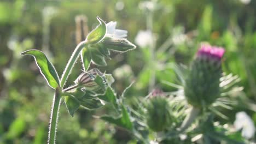
[[135,43],[140,47],[146,47],[153,44],[154,36],[151,31],[139,31],[135,37]]

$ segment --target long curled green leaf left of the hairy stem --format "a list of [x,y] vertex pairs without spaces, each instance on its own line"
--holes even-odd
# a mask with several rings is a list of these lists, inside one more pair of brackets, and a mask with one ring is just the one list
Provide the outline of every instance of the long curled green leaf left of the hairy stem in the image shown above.
[[48,60],[42,51],[28,50],[22,52],[21,55],[31,55],[34,57],[41,74],[46,79],[48,85],[56,89],[59,87],[60,79],[54,65]]

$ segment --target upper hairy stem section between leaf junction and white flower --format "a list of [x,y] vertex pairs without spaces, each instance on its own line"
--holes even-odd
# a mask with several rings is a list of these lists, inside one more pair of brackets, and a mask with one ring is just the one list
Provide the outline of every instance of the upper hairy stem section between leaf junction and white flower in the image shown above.
[[61,81],[60,81],[61,88],[65,85],[65,83],[68,79],[68,76],[71,73],[72,68],[74,67],[75,61],[77,61],[77,58],[78,58],[80,52],[85,47],[85,45],[86,45],[86,41],[82,41],[81,43],[79,43],[77,45],[77,47],[75,47],[75,50],[72,53],[65,70],[63,71]]

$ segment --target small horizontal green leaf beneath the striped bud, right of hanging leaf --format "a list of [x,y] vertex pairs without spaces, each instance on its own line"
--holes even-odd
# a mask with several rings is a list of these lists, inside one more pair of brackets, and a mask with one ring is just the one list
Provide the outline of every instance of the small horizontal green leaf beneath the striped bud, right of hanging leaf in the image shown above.
[[84,109],[88,109],[88,110],[95,110],[98,109],[100,107],[102,107],[103,105],[101,104],[101,101],[98,99],[80,99],[79,100],[80,105],[82,107],[84,107]]

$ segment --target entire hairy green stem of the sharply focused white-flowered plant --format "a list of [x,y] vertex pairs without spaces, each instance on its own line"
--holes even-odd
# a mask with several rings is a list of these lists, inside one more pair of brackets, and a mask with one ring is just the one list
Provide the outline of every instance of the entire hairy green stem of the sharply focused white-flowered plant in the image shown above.
[[[79,53],[83,50],[85,45],[86,45],[86,41],[82,41],[77,45],[77,47],[75,47],[75,50],[72,53],[71,58],[69,59],[67,66],[63,71],[63,74],[61,77],[61,81],[60,81],[61,91],[68,79],[69,74],[71,73],[72,68],[74,67],[75,62],[77,61],[77,58],[79,57]],[[60,102],[61,102],[61,91],[59,88],[57,88],[55,91],[54,99],[53,99],[53,109],[51,110],[50,129],[49,129],[49,137],[48,137],[49,144],[55,143],[57,119],[58,119],[58,113],[59,113]]]

